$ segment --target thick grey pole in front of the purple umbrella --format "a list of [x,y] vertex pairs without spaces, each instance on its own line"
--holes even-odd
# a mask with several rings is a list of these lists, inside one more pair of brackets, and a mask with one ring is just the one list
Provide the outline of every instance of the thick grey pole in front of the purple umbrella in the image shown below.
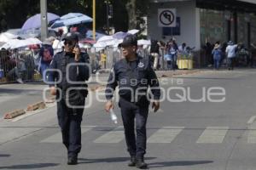
[[47,38],[48,21],[47,21],[47,0],[40,0],[41,10],[41,41]]

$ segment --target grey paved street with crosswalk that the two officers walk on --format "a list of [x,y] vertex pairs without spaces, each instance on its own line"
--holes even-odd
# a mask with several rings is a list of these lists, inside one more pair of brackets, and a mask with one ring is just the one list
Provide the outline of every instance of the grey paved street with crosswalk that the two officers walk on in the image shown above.
[[[150,111],[148,168],[255,169],[255,86],[255,70],[203,71],[169,77],[163,85],[165,89],[183,87],[187,94],[190,89],[191,99],[200,99],[203,89],[221,87],[225,89],[225,101],[174,103],[165,100],[158,113]],[[181,91],[177,90],[177,94]],[[178,99],[177,94],[172,91],[170,96]],[[67,152],[61,144],[56,108],[52,105],[20,120],[0,120],[0,169],[136,169],[127,167],[129,155],[118,106],[115,105],[114,111],[119,122],[115,125],[103,111],[103,103],[95,97],[92,103],[84,111],[79,165],[67,166]]]

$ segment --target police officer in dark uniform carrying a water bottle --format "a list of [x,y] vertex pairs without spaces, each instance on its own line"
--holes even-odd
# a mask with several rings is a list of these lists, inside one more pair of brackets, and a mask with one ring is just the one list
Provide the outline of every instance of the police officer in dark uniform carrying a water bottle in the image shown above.
[[[121,43],[125,59],[113,65],[108,78],[105,110],[113,108],[113,90],[119,84],[119,107],[125,127],[127,150],[131,156],[130,167],[146,168],[146,122],[148,117],[149,99],[148,85],[153,94],[152,107],[157,111],[160,107],[160,88],[157,77],[148,59],[138,56],[137,37],[127,35]],[[136,120],[137,138],[135,137],[134,120]]]

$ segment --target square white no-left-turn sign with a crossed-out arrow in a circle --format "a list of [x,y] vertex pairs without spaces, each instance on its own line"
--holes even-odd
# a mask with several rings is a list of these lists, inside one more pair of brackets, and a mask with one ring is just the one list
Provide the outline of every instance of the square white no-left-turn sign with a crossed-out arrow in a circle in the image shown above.
[[176,26],[176,8],[158,9],[158,26],[175,27]]

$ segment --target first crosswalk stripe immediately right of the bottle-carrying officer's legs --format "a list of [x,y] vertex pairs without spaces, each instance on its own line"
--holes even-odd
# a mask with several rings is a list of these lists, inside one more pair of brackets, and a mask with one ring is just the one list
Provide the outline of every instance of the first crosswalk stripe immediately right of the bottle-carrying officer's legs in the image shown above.
[[148,138],[148,143],[169,144],[184,127],[162,127]]

